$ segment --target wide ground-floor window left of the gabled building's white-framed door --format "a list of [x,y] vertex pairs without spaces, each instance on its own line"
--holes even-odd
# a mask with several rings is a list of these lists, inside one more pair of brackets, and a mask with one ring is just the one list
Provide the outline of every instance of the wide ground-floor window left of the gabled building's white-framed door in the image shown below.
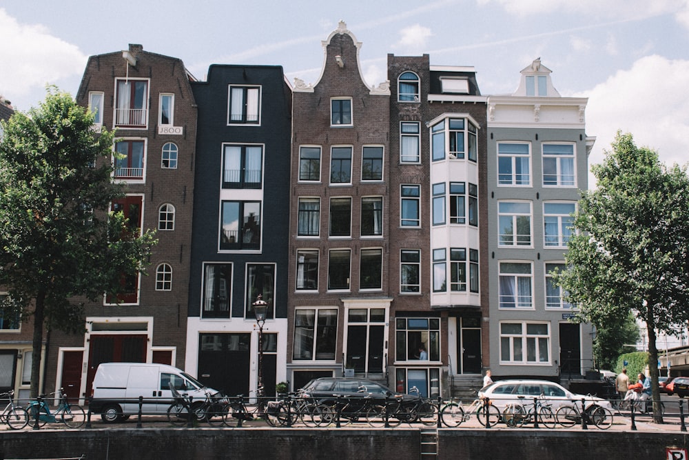
[[294,312],[292,359],[335,360],[338,339],[336,308],[298,308]]

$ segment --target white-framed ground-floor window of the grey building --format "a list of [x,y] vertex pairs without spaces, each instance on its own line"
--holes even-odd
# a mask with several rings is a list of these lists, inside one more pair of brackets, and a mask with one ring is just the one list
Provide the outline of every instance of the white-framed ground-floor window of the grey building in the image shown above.
[[[506,332],[503,334],[502,326],[506,324],[519,324],[521,326],[521,332],[510,333]],[[528,326],[546,326],[548,332],[547,334],[536,334],[533,332],[528,332]],[[551,352],[552,343],[552,328],[551,323],[548,321],[500,321],[498,326],[498,334],[500,336],[500,364],[501,365],[528,365],[528,366],[550,366],[553,353]],[[545,339],[545,343],[542,343],[542,339]],[[521,350],[522,359],[517,359],[517,346],[519,343],[519,348]],[[529,358],[529,347],[533,343],[533,356],[535,359]],[[508,359],[504,359],[504,347],[508,346]],[[542,348],[545,348],[547,353],[547,359],[539,359]]]

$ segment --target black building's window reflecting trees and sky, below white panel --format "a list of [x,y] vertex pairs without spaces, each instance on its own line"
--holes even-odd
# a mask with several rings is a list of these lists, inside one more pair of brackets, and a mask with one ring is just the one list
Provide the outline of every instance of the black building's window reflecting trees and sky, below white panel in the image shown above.
[[223,201],[220,249],[260,249],[260,201]]

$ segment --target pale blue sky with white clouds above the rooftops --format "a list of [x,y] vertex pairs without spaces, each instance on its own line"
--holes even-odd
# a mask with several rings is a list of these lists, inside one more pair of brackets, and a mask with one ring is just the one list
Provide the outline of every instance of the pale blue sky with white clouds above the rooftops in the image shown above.
[[427,53],[434,66],[473,66],[484,95],[511,94],[540,58],[563,97],[588,97],[590,165],[617,130],[668,166],[689,162],[689,0],[1,0],[0,95],[22,111],[47,84],[74,95],[88,56],[129,43],[200,80],[213,63],[246,63],[314,83],[340,20],[371,86],[387,54]]

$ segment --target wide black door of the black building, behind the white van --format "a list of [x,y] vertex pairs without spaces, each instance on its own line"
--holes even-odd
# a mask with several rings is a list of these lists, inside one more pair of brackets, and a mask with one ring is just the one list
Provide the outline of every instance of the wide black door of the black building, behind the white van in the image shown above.
[[199,334],[198,381],[228,396],[248,397],[250,344],[251,334]]

